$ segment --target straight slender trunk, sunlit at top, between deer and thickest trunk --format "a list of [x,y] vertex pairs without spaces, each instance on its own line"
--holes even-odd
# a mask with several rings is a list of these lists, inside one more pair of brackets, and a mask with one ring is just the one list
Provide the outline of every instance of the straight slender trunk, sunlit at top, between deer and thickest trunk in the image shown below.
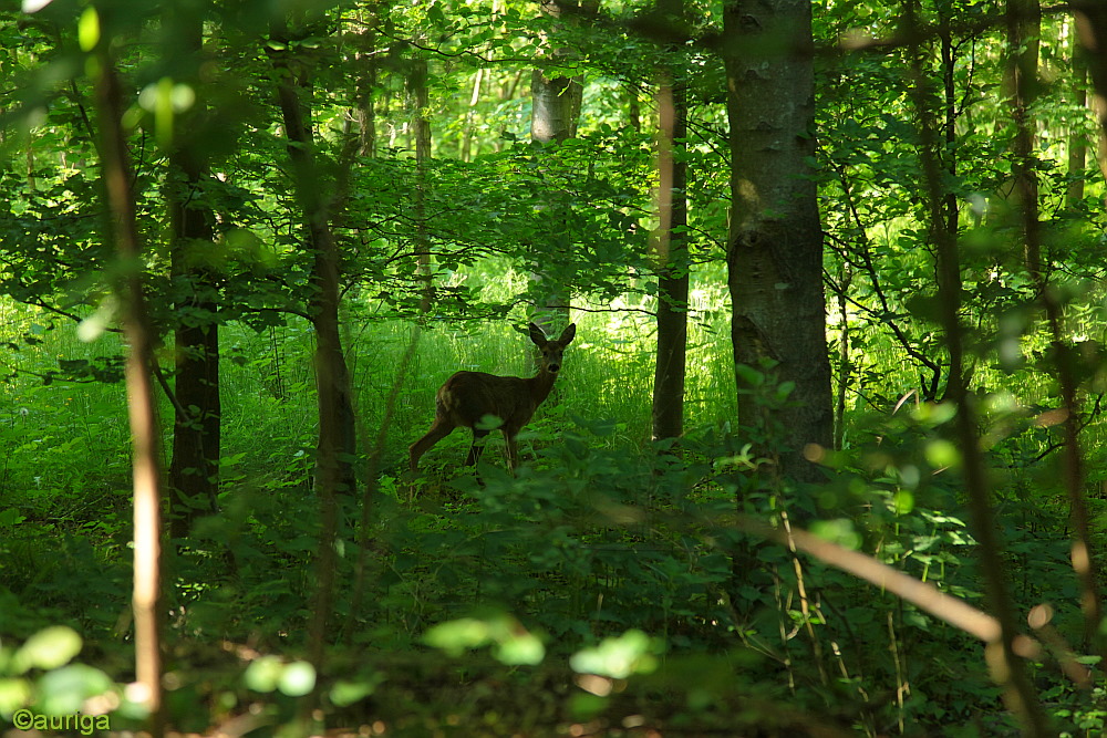
[[681,83],[662,73],[658,87],[658,361],[653,375],[653,437],[684,433],[684,375],[687,350],[689,258],[687,165],[681,153],[687,135],[687,104]]

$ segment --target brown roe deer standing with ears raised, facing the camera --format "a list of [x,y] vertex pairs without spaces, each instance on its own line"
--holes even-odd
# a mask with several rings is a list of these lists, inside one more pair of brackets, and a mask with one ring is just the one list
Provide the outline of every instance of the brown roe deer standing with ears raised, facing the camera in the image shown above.
[[530,324],[530,340],[541,351],[538,374],[524,380],[518,376],[496,376],[485,372],[458,372],[438,389],[434,401],[434,424],[426,435],[407,449],[411,470],[418,468],[418,459],[432,446],[448,436],[454,428],[473,429],[473,446],[465,466],[473,466],[484,450],[478,441],[490,432],[479,428],[480,418],[492,415],[503,422],[500,429],[507,440],[507,462],[514,472],[519,466],[519,451],[515,437],[534,416],[538,406],[554,388],[554,380],[561,368],[561,353],[577,335],[577,324],[569,325],[557,341],[546,337],[540,328]]

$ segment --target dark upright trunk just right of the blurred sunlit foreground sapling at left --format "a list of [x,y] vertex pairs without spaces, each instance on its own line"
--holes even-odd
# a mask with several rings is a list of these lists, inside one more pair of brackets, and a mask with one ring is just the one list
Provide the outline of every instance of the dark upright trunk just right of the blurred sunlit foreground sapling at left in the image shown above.
[[[178,10],[173,28],[180,51],[199,53],[203,25],[198,15]],[[196,116],[190,116],[195,123]],[[187,126],[188,121],[178,125]],[[166,187],[172,227],[169,271],[175,288],[173,460],[169,464],[170,533],[188,534],[193,521],[214,512],[219,491],[220,417],[219,323],[217,288],[198,258],[214,248],[214,215],[199,197],[207,177],[204,154],[187,131],[169,155]],[[203,142],[200,142],[200,145]]]

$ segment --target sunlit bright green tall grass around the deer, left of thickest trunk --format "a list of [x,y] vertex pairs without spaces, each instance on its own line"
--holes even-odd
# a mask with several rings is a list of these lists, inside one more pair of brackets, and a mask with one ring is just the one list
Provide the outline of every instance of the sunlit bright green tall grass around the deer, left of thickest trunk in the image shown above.
[[[693,294],[689,334],[687,424],[694,426],[733,417],[730,339],[715,301],[717,290]],[[6,340],[37,331],[41,343],[3,352],[0,361],[17,374],[0,385],[0,488],[73,491],[103,486],[116,491],[130,486],[130,433],[122,383],[43,384],[41,375],[58,371],[59,358],[120,355],[118,336],[105,333],[92,343],[76,337],[75,325],[45,324],[37,309],[6,301]],[[557,416],[591,423],[613,422],[611,445],[645,446],[651,432],[651,391],[655,329],[643,312],[620,312],[620,305],[591,305],[575,311],[576,341],[566,353],[557,392],[535,418]],[[649,308],[649,302],[630,308]],[[418,333],[395,415],[385,436],[383,469],[404,467],[406,447],[434,416],[434,395],[454,372],[531,376],[534,346],[521,312],[513,322],[432,321]],[[369,449],[384,419],[389,395],[412,340],[412,324],[359,321],[345,324],[345,349],[354,391],[362,448]],[[220,329],[223,346],[223,455],[228,482],[309,485],[318,409],[312,372],[313,335],[306,321],[256,332],[238,323]],[[168,370],[172,347],[159,354]],[[159,397],[164,455],[168,458],[173,408]],[[498,434],[497,434],[498,435]],[[498,443],[498,441],[495,441]],[[446,458],[464,458],[468,434],[457,433],[435,449]]]

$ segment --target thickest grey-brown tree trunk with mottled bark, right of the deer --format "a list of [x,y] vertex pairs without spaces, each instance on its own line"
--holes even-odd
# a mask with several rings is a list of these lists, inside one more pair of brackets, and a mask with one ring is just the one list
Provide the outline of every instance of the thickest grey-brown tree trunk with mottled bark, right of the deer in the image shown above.
[[809,164],[815,156],[811,3],[731,0],[723,18],[734,362],[795,384],[788,406],[769,413],[736,371],[738,422],[776,428],[780,474],[815,481],[819,470],[805,454],[814,458],[818,447],[830,446],[832,413],[823,229]]

